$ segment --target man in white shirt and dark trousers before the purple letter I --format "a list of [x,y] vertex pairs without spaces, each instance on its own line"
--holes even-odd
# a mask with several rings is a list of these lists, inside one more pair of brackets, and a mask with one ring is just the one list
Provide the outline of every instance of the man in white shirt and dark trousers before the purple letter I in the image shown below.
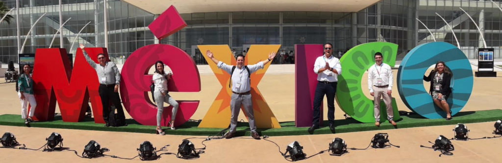
[[331,43],[324,44],[324,55],[317,57],[314,63],[314,72],[317,73],[317,86],[314,95],[314,112],[312,119],[313,125],[308,129],[313,132],[319,128],[319,120],[321,116],[320,107],[324,94],[328,98],[328,120],[329,129],[335,130],[335,94],[338,75],[342,72],[340,60],[332,55],[333,45]]

